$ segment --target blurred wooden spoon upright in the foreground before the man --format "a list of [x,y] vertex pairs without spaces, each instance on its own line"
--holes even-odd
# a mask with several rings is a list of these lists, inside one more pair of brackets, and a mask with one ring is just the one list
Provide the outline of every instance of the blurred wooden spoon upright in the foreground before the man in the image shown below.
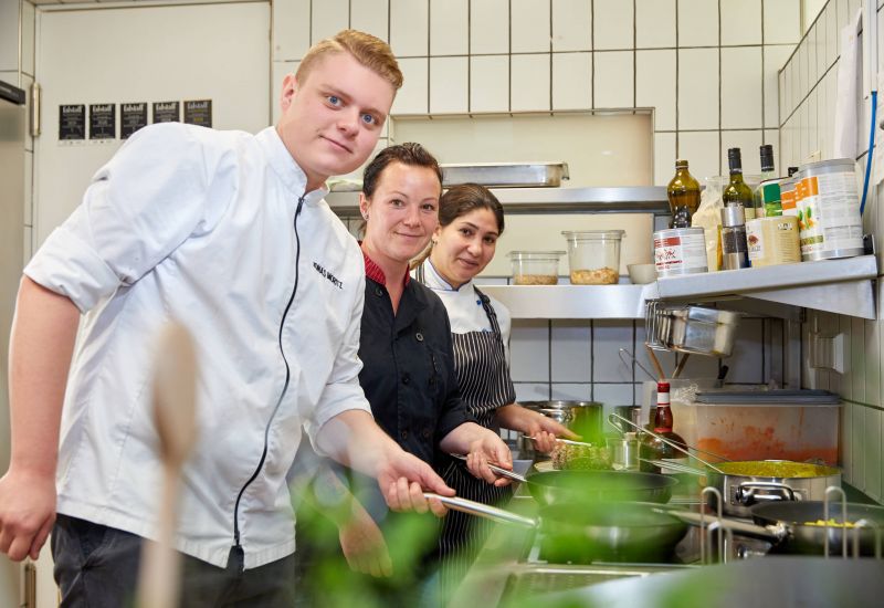
[[172,546],[181,467],[197,434],[197,357],[188,331],[169,324],[158,343],[154,376],[154,418],[162,461],[157,542],[145,542],[138,577],[138,606],[178,605],[179,555]]

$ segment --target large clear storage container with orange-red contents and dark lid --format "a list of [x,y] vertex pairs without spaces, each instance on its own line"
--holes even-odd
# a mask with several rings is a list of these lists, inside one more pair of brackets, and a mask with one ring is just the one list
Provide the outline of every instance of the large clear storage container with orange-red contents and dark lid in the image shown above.
[[672,402],[673,430],[730,460],[838,463],[841,401],[824,390],[699,391]]

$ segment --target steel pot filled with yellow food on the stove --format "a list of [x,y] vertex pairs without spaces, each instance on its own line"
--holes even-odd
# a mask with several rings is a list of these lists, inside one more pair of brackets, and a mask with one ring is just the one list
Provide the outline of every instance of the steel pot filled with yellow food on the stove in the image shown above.
[[[766,460],[759,463],[792,463],[785,460]],[[820,474],[808,476],[771,476],[771,475],[738,475],[727,473],[728,467],[746,465],[750,462],[720,462],[716,464],[724,471],[709,470],[707,482],[717,489],[724,497],[723,510],[728,515],[749,517],[750,507],[756,504],[771,501],[822,501],[825,499],[825,489],[830,485],[841,486],[841,470],[834,467],[807,464],[815,468]],[[712,499],[711,499],[712,500]]]

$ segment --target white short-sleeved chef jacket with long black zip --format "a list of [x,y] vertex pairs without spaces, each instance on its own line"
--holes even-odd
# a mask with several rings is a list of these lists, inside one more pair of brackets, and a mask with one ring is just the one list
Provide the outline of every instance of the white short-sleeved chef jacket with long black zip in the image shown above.
[[223,567],[245,488],[245,567],[294,551],[285,474],[302,423],[313,436],[345,410],[370,411],[358,380],[362,253],[327,190],[305,187],[273,128],[149,126],[95,174],[24,271],[87,312],[65,395],[59,513],[155,537],[151,367],[155,336],[175,318],[200,370],[177,548]]

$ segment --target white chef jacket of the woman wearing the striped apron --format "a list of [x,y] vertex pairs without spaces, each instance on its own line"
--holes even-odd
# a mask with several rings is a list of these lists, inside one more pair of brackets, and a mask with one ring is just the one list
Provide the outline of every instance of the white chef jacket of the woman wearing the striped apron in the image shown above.
[[[456,290],[436,272],[430,259],[423,261],[423,282],[433,290],[449,313],[452,334],[466,334],[470,332],[491,332],[491,321],[482,307],[482,301],[473,289],[474,283],[470,281]],[[481,290],[482,287],[480,287]],[[487,294],[485,294],[487,295]],[[509,360],[509,328],[512,317],[509,310],[501,302],[488,295],[492,308],[497,315],[497,325],[501,326],[501,339],[504,343],[506,360]]]

